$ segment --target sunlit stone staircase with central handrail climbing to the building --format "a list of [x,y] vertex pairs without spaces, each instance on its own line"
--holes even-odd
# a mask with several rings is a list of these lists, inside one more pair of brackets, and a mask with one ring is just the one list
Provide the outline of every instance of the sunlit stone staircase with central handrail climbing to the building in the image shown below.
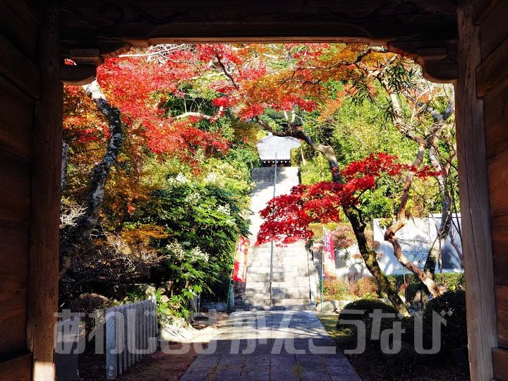
[[[298,167],[277,168],[276,195],[289,193],[298,185]],[[305,243],[286,247],[274,244],[272,299],[270,299],[271,243],[253,246],[262,223],[259,211],[273,198],[274,168],[253,169],[256,183],[251,198],[253,213],[250,216],[251,246],[248,251],[247,283],[237,285],[235,304],[238,309],[250,310],[311,310],[309,265],[312,260]],[[245,286],[239,290],[238,286]],[[238,300],[238,298],[240,300]]]

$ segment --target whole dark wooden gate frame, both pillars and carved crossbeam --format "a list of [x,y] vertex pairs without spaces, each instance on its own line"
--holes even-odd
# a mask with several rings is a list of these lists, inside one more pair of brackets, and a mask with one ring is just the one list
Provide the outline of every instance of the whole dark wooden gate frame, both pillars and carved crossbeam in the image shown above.
[[[33,379],[54,379],[63,99],[60,81],[86,83],[104,59],[131,47],[162,42],[363,42],[387,44],[392,52],[420,63],[427,78],[456,83],[471,380],[491,380],[492,348],[497,347],[496,306],[485,119],[483,101],[477,96],[480,77],[476,69],[485,61],[480,52],[480,24],[501,2],[459,0],[456,8],[452,0],[393,0],[381,5],[374,0],[340,4],[325,0],[195,0],[173,2],[171,11],[167,1],[157,0],[66,0],[59,4],[59,11],[51,1],[45,10],[36,6],[36,13],[42,15],[37,60],[42,85],[34,125],[28,286],[27,341],[33,356]],[[25,73],[9,71],[15,65],[16,49],[1,53],[1,73],[14,82],[18,80],[20,87],[26,85],[27,78],[22,78]],[[78,65],[63,67],[63,58],[71,58]],[[502,52],[501,58],[508,61],[507,52]],[[496,58],[480,73],[482,89],[495,86],[492,71],[507,77],[508,69],[500,69],[498,63]],[[494,350],[494,354],[502,358],[501,363],[508,363],[502,350]],[[4,369],[0,363],[0,374]]]

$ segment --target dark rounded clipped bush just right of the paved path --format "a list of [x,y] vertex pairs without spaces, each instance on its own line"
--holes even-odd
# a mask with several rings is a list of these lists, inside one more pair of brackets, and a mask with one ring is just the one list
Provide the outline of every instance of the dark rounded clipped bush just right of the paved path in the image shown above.
[[[348,313],[348,310],[363,310],[363,315]],[[356,337],[357,328],[355,325],[341,325],[339,322],[340,320],[361,320],[365,323],[367,342],[369,342],[373,325],[373,319],[369,317],[369,315],[370,313],[373,313],[374,310],[382,310],[382,313],[393,313],[397,315],[397,310],[387,303],[371,299],[360,299],[358,301],[353,301],[344,307],[343,312],[339,314],[339,321],[337,321],[337,330],[339,332],[344,332],[345,329],[350,329],[351,335]],[[392,329],[394,321],[399,321],[397,316],[393,318],[383,317],[381,320],[381,331],[383,329]]]

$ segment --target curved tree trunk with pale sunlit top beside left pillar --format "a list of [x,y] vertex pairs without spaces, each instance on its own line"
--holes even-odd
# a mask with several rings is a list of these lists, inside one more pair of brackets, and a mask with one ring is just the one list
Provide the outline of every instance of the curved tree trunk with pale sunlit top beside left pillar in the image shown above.
[[90,186],[86,200],[85,213],[79,217],[75,226],[71,226],[66,238],[60,243],[60,277],[71,267],[75,253],[90,238],[99,220],[99,213],[104,201],[104,188],[111,166],[116,163],[123,140],[123,124],[120,110],[111,107],[107,102],[97,80],[83,86],[88,97],[95,102],[97,108],[106,116],[109,123],[111,138],[102,161],[90,172]]

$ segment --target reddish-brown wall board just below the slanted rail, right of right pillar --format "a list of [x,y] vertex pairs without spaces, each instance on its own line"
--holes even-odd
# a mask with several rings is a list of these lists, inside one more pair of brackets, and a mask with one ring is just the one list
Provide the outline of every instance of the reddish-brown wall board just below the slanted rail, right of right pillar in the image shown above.
[[487,158],[508,150],[508,85],[499,85],[483,98]]

